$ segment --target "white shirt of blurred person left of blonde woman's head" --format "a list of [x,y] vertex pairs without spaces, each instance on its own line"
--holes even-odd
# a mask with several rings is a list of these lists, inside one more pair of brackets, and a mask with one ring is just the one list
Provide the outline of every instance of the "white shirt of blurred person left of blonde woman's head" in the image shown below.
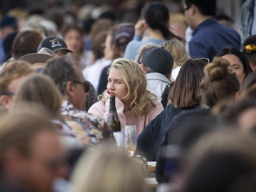
[[87,66],[83,70],[84,78],[91,82],[96,92],[98,92],[101,72],[106,66],[110,65],[110,63],[111,60],[107,60],[102,57],[101,59],[97,59],[95,63]]

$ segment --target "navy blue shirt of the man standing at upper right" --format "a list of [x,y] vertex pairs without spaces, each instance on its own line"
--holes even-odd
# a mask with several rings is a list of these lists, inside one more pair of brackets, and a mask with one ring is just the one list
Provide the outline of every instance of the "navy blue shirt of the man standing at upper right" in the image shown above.
[[217,53],[227,47],[240,48],[240,36],[230,27],[217,23],[212,17],[199,24],[193,31],[189,42],[191,58],[207,58],[212,61]]

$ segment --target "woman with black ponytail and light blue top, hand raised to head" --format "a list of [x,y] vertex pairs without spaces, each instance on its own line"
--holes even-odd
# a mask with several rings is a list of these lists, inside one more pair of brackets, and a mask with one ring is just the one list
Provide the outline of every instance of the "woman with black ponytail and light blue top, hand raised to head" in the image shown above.
[[[160,2],[148,4],[145,8],[144,20],[139,20],[135,25],[135,35],[125,49],[124,58],[134,61],[140,47],[147,43],[161,45],[165,40],[174,37],[180,39],[169,31],[168,24],[169,11],[167,7]],[[148,32],[148,38],[142,41],[145,30]]]

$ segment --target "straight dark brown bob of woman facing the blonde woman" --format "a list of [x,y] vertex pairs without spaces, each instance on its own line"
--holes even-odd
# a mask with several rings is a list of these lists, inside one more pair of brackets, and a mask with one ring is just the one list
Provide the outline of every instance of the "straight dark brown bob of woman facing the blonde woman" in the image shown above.
[[195,106],[201,101],[200,82],[204,77],[205,62],[200,59],[188,59],[180,68],[168,99],[174,108]]

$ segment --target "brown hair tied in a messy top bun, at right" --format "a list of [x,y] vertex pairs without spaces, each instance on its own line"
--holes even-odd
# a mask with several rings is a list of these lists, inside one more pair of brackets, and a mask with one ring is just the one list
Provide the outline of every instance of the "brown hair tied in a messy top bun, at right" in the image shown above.
[[214,58],[205,67],[205,77],[201,82],[202,102],[209,107],[223,99],[232,99],[240,89],[240,83],[229,61]]

